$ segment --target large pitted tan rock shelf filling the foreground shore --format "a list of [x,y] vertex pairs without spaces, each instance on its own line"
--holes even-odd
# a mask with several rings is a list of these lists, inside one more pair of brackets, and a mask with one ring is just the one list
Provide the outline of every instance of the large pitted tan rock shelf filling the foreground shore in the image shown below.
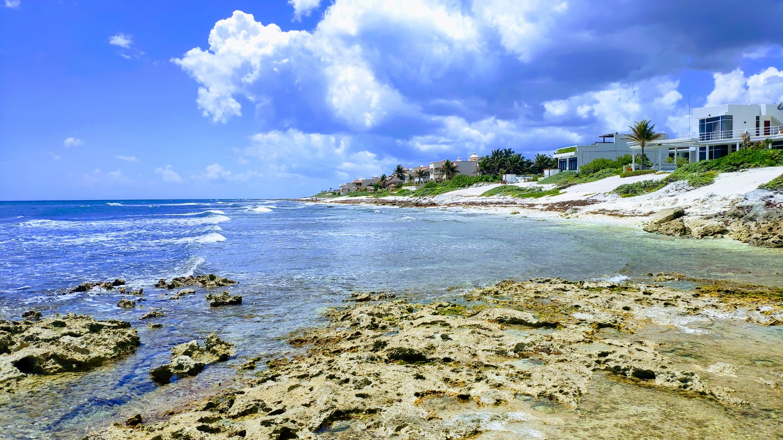
[[[606,381],[631,396],[737,414],[752,425],[756,437],[748,438],[783,435],[780,365],[738,366],[703,351],[688,357],[657,341],[674,329],[709,333],[698,323],[716,319],[781,325],[781,289],[659,274],[647,283],[507,280],[428,304],[390,297],[355,294],[351,305],[326,313],[327,326],[291,334],[306,354],[270,359],[246,388],[161,423],[143,424],[140,414],[86,438],[611,438],[615,428],[627,435],[619,422],[597,436],[579,425],[592,420],[579,409]],[[626,400],[615,406],[633,406]],[[628,419],[649,430],[658,420]],[[677,437],[672,427],[657,428],[655,437]],[[694,425],[690,435],[728,429],[713,428]]]

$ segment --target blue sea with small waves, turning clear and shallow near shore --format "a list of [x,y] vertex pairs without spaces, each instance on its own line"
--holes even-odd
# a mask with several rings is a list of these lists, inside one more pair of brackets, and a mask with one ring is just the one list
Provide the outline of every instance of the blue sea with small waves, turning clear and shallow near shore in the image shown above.
[[[29,308],[126,319],[142,346],[98,370],[0,396],[2,435],[72,438],[138,412],[162,417],[218,383],[230,386],[234,366],[247,357],[290,351],[288,332],[317,325],[319,311],[353,290],[432,300],[508,277],[659,271],[780,286],[781,256],[724,240],[662,239],[618,226],[473,210],[283,200],[4,202],[0,319],[18,319]],[[159,278],[209,272],[240,281],[228,290],[244,295],[243,305],[209,308],[200,289],[171,301],[171,292],[153,287]],[[144,287],[143,308],[118,308],[123,296],[114,293],[62,294],[82,281],[115,277]],[[161,330],[138,320],[152,308],[167,313],[154,319]],[[198,377],[152,384],[147,370],[168,362],[172,345],[211,332],[236,344],[235,358]]]

